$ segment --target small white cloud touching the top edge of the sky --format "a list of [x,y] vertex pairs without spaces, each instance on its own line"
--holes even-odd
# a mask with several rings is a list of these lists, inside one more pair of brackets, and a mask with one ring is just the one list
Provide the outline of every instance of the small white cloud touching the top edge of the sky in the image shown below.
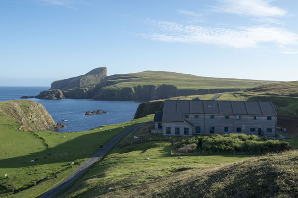
[[217,12],[255,17],[280,17],[287,11],[270,5],[272,0],[218,0],[222,5],[214,7]]

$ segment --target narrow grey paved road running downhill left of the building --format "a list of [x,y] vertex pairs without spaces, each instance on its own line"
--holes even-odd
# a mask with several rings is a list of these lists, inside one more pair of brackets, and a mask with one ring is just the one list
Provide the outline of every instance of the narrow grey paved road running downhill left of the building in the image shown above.
[[[82,178],[84,176],[83,173],[85,173],[94,163],[96,163],[100,157],[105,155],[110,151],[111,148],[113,148],[124,136],[135,130],[136,128],[142,126],[144,123],[137,124],[129,129],[124,130],[120,134],[118,134],[116,137],[114,137],[110,142],[108,142],[102,150],[97,151],[91,158],[89,158],[87,161],[85,161],[78,169],[76,169],[70,176],[68,176],[66,179],[64,179],[62,182],[57,184],[55,187],[50,189],[48,192],[42,194],[38,198],[52,198],[55,195],[58,196],[68,185],[70,185],[72,182],[77,181],[78,179]],[[59,194],[58,194],[59,193]],[[56,197],[55,196],[55,197]]]

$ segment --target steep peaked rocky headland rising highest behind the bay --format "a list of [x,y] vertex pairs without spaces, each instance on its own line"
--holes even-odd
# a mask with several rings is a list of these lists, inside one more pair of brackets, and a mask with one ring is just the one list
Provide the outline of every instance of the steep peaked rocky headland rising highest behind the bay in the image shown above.
[[107,77],[107,68],[99,67],[82,76],[54,81],[51,84],[51,89],[68,90],[76,87],[84,87],[87,85],[99,83],[105,77]]

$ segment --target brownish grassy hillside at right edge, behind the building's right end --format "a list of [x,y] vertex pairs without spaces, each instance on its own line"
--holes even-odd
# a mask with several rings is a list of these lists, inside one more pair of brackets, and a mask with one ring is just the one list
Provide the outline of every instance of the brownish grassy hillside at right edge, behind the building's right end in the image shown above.
[[279,82],[263,85],[244,91],[247,94],[294,96],[298,97],[298,81]]

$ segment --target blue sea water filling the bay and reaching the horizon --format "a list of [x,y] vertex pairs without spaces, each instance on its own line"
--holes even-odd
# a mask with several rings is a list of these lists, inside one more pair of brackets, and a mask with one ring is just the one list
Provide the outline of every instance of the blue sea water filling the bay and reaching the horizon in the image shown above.
[[[16,100],[21,96],[36,96],[49,87],[0,87],[0,101]],[[134,118],[140,102],[99,101],[91,99],[30,100],[41,103],[55,122],[66,125],[57,132],[86,131],[101,125],[126,122]],[[86,111],[103,110],[107,114],[85,116]],[[68,120],[68,121],[62,121]]]

